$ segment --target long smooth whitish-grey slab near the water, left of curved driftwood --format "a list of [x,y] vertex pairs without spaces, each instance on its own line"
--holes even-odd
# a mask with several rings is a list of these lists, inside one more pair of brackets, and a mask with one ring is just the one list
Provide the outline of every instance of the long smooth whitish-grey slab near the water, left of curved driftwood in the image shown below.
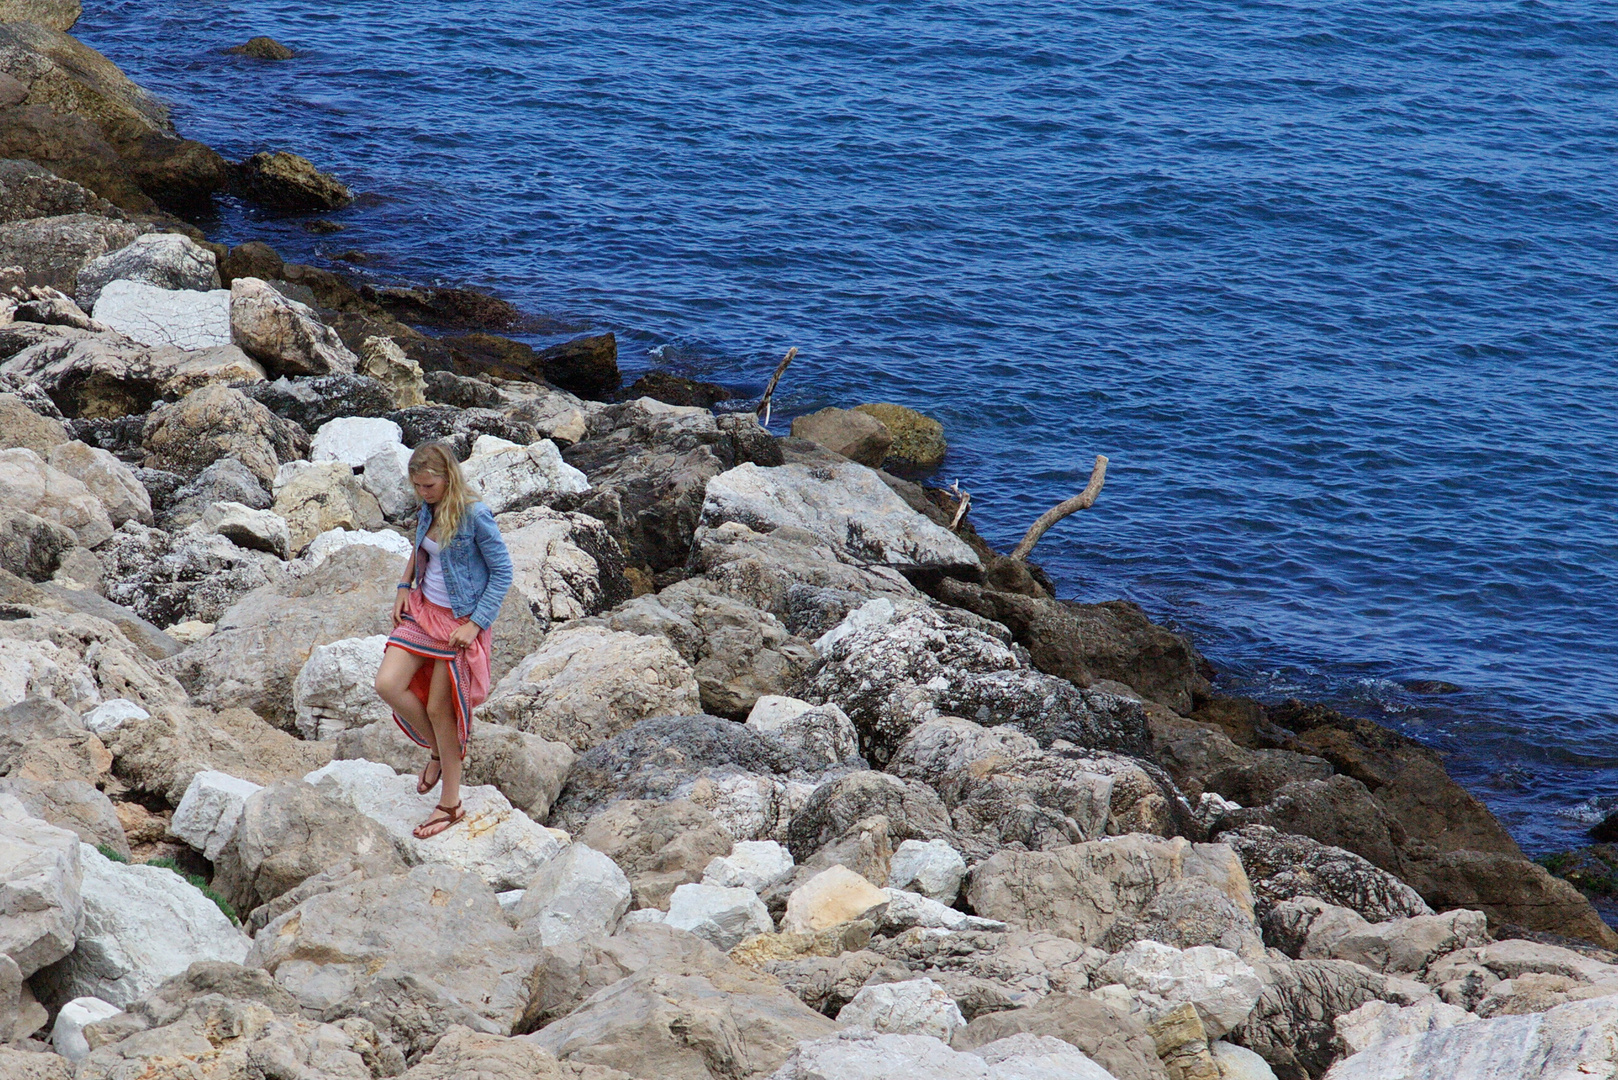
[[[726,521],[754,531],[803,529],[853,563],[913,568],[979,568],[966,541],[911,510],[869,468],[751,461],[707,484],[701,525]],[[760,529],[762,526],[762,529]]]

